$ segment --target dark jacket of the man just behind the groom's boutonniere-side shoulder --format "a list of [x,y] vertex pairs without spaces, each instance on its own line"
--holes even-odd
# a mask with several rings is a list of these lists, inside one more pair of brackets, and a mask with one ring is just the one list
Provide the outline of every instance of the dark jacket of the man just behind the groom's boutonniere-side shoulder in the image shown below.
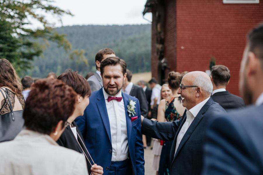
[[147,104],[147,99],[143,91],[143,88],[141,88],[141,86],[138,86],[138,85],[132,85],[131,92],[129,95],[139,100],[141,115],[147,118],[148,104]]

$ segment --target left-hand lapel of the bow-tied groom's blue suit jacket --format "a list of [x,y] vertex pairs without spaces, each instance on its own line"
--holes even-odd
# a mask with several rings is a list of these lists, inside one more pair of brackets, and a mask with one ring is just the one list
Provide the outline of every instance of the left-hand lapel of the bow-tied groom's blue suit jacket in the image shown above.
[[101,114],[101,119],[103,121],[103,124],[105,126],[105,129],[107,131],[107,134],[108,134],[108,137],[109,137],[110,143],[111,143],[110,120],[109,120],[109,117],[108,117],[108,112],[107,112],[106,103],[105,103],[105,99],[104,99],[102,88],[98,92],[97,99],[98,99],[98,101],[96,102],[96,104],[97,104],[97,107],[98,107],[98,111]]

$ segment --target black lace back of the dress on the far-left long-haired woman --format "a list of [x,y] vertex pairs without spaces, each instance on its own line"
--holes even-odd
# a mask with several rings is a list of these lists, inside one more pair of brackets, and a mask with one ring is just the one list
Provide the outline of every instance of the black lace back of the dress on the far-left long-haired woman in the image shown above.
[[[11,104],[12,104],[12,108],[14,108],[15,107],[15,93],[12,92],[11,90],[7,89],[7,88],[5,88],[5,91],[7,92],[8,96],[10,98],[10,101],[11,101]],[[3,90],[2,90],[2,92],[3,92]],[[0,95],[2,96],[1,92],[0,92]],[[21,104],[22,108],[24,109],[24,106],[25,106],[25,99],[24,99],[24,97],[23,96],[17,96],[17,97],[18,97],[19,103]],[[3,99],[1,101],[1,103],[0,103],[0,115],[6,114],[8,112],[11,112],[11,110],[10,110],[6,100]]]

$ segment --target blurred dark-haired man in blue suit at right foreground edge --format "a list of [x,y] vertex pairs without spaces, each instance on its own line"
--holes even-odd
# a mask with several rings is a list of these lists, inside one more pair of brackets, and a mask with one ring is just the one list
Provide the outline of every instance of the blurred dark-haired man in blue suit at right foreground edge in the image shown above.
[[239,75],[250,106],[212,121],[203,174],[263,174],[263,25],[248,35]]

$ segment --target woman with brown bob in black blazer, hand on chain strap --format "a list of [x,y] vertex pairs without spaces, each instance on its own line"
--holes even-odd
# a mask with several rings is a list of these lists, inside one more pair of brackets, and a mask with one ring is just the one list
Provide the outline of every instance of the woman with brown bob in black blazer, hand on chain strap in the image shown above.
[[89,96],[91,95],[89,83],[84,77],[70,69],[66,70],[57,79],[65,82],[77,93],[77,104],[75,110],[68,118],[70,125],[65,128],[65,131],[62,133],[57,143],[60,146],[82,153],[86,158],[89,174],[103,174],[103,168],[93,162],[93,159],[84,144],[84,139],[79,127],[74,122],[75,118],[83,115],[85,108],[89,104]]

